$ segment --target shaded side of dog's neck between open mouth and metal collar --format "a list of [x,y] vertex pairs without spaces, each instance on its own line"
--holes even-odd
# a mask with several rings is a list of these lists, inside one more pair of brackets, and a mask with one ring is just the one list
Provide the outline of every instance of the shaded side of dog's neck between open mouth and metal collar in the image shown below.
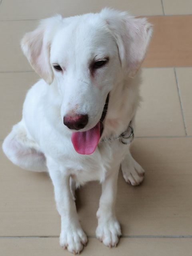
[[102,139],[117,138],[127,130],[140,102],[138,84],[140,84],[140,73],[134,79],[119,81],[114,87],[116,89],[110,92]]

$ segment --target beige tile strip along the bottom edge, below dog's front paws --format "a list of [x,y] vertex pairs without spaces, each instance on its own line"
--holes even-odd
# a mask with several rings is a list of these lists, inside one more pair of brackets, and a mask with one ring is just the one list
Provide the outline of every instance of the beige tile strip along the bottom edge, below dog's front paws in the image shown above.
[[[117,248],[107,248],[96,238],[89,238],[82,255],[85,256],[181,256],[190,255],[192,238],[122,238]],[[58,245],[58,238],[0,239],[1,255],[71,256]]]

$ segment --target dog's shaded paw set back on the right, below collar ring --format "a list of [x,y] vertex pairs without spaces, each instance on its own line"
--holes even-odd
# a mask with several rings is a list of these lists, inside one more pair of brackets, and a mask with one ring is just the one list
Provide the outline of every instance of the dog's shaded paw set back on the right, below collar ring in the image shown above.
[[126,156],[121,163],[121,169],[125,181],[133,186],[139,185],[144,179],[144,169],[134,160],[134,158],[132,158],[132,156]]

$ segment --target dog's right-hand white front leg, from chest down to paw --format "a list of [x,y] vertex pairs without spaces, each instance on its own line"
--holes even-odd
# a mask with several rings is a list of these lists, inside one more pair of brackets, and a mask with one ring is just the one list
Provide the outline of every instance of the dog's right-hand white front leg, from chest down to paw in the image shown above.
[[119,166],[113,168],[113,171],[102,183],[102,195],[97,211],[98,227],[96,236],[109,247],[116,247],[121,235],[120,224],[115,216],[118,170]]

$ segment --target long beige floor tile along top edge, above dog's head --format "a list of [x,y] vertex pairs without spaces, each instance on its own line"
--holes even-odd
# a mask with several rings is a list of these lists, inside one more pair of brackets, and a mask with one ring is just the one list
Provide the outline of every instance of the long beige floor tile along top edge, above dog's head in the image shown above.
[[163,14],[161,0],[39,0],[38,3],[30,0],[6,0],[1,4],[0,20],[42,19],[56,13],[68,17],[86,12],[99,12],[106,6],[118,10],[130,10],[133,15]]

